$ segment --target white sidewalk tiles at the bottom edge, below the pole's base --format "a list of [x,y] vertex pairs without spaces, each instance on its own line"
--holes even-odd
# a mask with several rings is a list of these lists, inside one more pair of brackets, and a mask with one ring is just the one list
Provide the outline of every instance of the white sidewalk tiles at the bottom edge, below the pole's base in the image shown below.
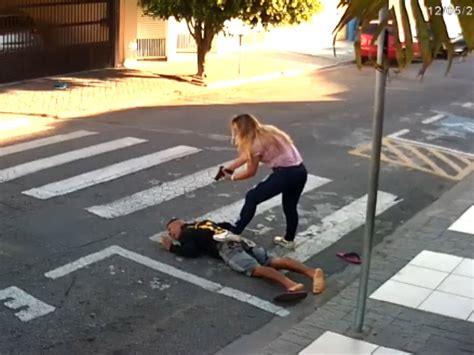
[[298,353],[298,355],[315,354],[404,355],[409,353],[327,331]]

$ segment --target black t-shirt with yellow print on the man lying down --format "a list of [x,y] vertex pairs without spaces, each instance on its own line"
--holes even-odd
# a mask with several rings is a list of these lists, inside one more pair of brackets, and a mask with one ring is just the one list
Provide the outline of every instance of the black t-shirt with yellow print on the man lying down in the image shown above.
[[210,221],[187,223],[183,226],[179,237],[179,245],[172,245],[170,251],[174,254],[190,258],[209,255],[220,259],[217,248],[219,242],[216,242],[213,236],[222,231],[221,228]]

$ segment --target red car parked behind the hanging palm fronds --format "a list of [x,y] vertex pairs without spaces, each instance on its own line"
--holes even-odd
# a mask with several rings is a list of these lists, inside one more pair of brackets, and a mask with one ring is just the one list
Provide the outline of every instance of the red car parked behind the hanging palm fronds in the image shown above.
[[[377,26],[379,22],[377,20],[371,21],[369,26],[364,29],[360,35],[360,49],[361,49],[361,56],[362,61],[373,60],[377,59],[377,44],[372,42],[374,34],[376,33]],[[388,58],[389,60],[396,60],[397,59],[397,49],[395,47],[395,38],[393,36],[393,27],[392,22],[388,22]],[[402,46],[404,44],[402,43]],[[420,58],[420,46],[416,40],[413,42],[413,57]]]

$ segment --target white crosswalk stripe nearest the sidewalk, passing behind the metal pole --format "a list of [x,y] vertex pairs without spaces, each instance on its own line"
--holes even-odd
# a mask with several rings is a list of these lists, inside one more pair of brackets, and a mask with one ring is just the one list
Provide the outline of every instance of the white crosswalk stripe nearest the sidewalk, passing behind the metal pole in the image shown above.
[[[376,215],[380,215],[402,200],[387,192],[378,191]],[[312,225],[298,233],[296,250],[286,254],[290,258],[305,262],[331,246],[346,234],[365,224],[367,195],[351,202],[336,212],[324,217],[318,225]],[[300,240],[303,239],[301,242]]]

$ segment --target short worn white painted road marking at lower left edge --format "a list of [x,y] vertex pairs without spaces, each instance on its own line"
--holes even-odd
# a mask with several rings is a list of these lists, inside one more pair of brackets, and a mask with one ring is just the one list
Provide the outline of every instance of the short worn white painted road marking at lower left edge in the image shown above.
[[15,316],[22,322],[29,322],[35,318],[45,316],[55,310],[53,306],[29,295],[22,289],[12,286],[0,290],[0,301],[8,299],[3,305],[7,308],[18,310]]

